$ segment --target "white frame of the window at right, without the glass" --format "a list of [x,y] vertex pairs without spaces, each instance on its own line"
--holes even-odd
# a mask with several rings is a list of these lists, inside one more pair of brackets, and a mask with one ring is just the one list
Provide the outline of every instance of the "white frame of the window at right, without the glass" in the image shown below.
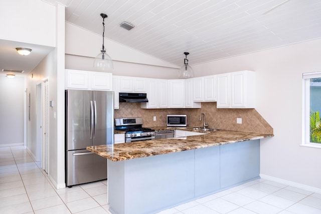
[[[321,78],[321,72],[302,74],[302,144],[300,146],[320,148],[321,143],[310,142],[310,79]],[[321,112],[320,112],[321,113]]]

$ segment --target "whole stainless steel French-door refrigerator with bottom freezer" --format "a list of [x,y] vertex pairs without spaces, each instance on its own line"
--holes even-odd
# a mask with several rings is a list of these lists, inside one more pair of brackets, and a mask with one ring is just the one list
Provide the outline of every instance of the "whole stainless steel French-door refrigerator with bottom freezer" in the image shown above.
[[114,92],[66,90],[66,185],[107,178],[107,159],[87,146],[114,143]]

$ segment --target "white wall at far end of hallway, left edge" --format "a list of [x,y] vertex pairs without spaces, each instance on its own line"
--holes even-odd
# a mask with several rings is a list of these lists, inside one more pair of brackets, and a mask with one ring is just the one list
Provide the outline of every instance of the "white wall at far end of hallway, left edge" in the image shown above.
[[0,76],[0,146],[24,145],[25,77]]

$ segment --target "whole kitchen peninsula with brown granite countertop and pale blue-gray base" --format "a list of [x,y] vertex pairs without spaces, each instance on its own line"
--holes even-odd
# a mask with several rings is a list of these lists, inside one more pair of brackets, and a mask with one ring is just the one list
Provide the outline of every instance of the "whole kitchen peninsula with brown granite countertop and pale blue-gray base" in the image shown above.
[[108,159],[109,210],[155,213],[259,178],[259,139],[272,134],[205,133],[87,147]]

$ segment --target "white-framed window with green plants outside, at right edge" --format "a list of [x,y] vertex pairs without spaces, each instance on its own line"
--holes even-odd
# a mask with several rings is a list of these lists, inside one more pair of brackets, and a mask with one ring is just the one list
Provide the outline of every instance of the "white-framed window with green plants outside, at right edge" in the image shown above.
[[321,72],[303,74],[302,145],[321,148]]

